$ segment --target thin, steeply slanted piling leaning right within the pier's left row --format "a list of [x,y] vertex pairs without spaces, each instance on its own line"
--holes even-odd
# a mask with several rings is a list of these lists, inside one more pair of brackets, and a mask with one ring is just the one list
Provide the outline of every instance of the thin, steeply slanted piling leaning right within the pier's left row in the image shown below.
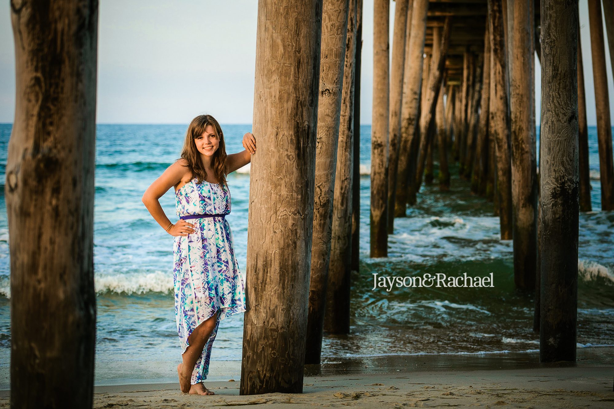
[[435,105],[439,90],[441,89],[441,80],[443,79],[443,67],[446,63],[446,54],[448,53],[448,43],[450,39],[451,17],[446,17],[443,23],[443,33],[441,34],[441,43],[435,47],[433,43],[433,58],[430,64],[429,84],[426,89],[426,102],[424,103],[424,111],[420,119],[422,138],[420,138],[419,159],[416,167],[416,179],[414,180],[414,192],[420,190],[422,184],[422,173],[424,173],[424,163],[430,138],[428,137],[429,129],[435,125]]

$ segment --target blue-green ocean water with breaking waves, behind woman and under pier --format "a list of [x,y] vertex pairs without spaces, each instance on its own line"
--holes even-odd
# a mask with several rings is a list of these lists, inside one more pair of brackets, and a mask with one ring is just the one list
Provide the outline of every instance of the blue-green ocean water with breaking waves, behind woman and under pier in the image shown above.
[[[250,125],[222,126],[227,152],[242,151]],[[181,152],[184,125],[96,127],[94,263],[98,295],[96,385],[176,381],[181,347],[173,304],[173,237],[141,203],[149,184]],[[0,124],[4,198],[10,124]],[[423,186],[409,217],[395,220],[389,257],[369,257],[370,126],[360,127],[360,271],[352,275],[351,333],[326,335],[324,362],[386,355],[463,355],[535,351],[533,298],[513,285],[511,241],[499,238],[492,203],[470,193],[451,167],[451,190]],[[258,137],[258,135],[256,135]],[[578,348],[614,345],[614,212],[600,211],[597,133],[589,127],[591,198],[580,214]],[[435,163],[437,173],[437,163]],[[228,176],[239,268],[245,277],[249,165]],[[176,220],[173,189],[160,203]],[[9,388],[10,262],[6,203],[0,201],[0,389]],[[394,287],[382,276],[487,277],[494,287]],[[243,314],[220,323],[209,380],[240,375]],[[226,362],[223,367],[219,362]],[[230,368],[230,369],[228,369]],[[219,370],[218,370],[219,369]]]

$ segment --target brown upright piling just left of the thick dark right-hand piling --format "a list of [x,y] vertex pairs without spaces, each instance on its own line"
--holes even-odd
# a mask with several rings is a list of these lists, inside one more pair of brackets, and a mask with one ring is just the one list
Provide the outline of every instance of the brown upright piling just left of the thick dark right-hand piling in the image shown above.
[[[537,152],[532,116],[534,73],[533,18],[529,2],[516,0],[510,15],[511,55],[511,178],[513,209],[514,282],[516,288],[535,290],[537,274]],[[509,24],[509,23],[508,23]]]

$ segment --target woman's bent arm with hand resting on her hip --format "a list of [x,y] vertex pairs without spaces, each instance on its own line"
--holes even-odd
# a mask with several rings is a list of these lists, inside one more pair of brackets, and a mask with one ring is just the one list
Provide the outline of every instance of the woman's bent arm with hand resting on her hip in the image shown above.
[[[185,174],[185,168],[182,166],[184,163],[185,159],[180,159],[166,168],[160,177],[150,184],[141,198],[141,201],[145,204],[145,207],[149,210],[153,219],[155,219],[163,229],[166,229],[171,224],[171,220],[166,217],[158,199],[161,198],[164,193],[168,192],[168,189],[171,189],[181,181],[181,178]],[[186,222],[186,224],[190,226],[184,228],[184,230],[192,227],[191,223]],[[166,232],[173,235],[170,230],[173,230],[173,228],[171,227],[171,229],[166,230]],[[182,236],[183,235],[184,234],[182,234]]]

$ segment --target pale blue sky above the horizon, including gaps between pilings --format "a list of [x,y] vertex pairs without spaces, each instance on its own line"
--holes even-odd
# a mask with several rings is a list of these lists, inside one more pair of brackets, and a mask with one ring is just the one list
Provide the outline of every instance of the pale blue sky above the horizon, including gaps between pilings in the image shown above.
[[[373,0],[363,0],[360,122],[371,123]],[[391,2],[391,37],[394,21]],[[209,113],[251,123],[256,0],[102,0],[98,30],[99,123],[187,124]],[[589,126],[596,124],[587,0],[580,0]],[[607,36],[606,36],[607,41]],[[610,111],[614,85],[607,51]],[[535,64],[537,121],[540,72]],[[15,113],[15,54],[9,1],[0,4],[0,122]]]

